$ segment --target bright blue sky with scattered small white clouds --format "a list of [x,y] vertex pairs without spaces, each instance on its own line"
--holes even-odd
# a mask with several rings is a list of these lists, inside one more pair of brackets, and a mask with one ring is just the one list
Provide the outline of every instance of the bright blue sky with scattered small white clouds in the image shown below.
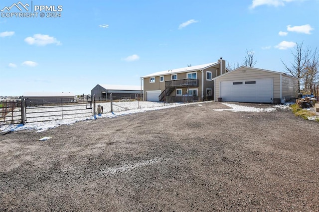
[[142,76],[220,57],[242,65],[246,49],[256,68],[283,72],[296,42],[319,47],[319,0],[18,2],[0,1],[0,96],[140,85]]

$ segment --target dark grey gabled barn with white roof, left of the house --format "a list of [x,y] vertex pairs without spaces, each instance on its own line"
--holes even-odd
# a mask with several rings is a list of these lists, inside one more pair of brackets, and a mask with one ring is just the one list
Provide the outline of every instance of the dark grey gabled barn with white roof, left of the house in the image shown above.
[[[132,99],[143,94],[141,86],[98,84],[91,90],[92,98],[96,101],[109,100],[112,93],[113,100]],[[93,101],[93,99],[92,99]]]

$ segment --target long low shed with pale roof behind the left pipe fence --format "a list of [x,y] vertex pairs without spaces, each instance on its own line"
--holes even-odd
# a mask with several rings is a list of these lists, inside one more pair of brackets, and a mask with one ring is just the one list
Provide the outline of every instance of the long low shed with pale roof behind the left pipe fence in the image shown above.
[[70,103],[75,101],[71,92],[25,92],[25,103],[28,105],[43,105],[51,103]]

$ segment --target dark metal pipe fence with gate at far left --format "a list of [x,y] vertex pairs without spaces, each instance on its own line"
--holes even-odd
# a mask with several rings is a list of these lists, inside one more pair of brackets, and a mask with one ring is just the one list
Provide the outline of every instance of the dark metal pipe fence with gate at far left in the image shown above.
[[0,102],[0,125],[92,116],[91,99],[37,98]]

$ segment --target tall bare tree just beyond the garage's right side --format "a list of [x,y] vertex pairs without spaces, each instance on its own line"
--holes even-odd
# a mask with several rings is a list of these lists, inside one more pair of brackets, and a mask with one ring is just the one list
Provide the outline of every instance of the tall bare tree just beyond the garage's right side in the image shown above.
[[281,62],[284,64],[286,72],[289,72],[291,75],[299,79],[298,91],[300,92],[300,80],[305,76],[306,66],[309,62],[311,50],[309,48],[303,50],[303,43],[296,44],[295,52],[291,52],[291,54],[294,56],[294,62],[291,63],[291,67],[288,67],[283,60],[281,60]]

